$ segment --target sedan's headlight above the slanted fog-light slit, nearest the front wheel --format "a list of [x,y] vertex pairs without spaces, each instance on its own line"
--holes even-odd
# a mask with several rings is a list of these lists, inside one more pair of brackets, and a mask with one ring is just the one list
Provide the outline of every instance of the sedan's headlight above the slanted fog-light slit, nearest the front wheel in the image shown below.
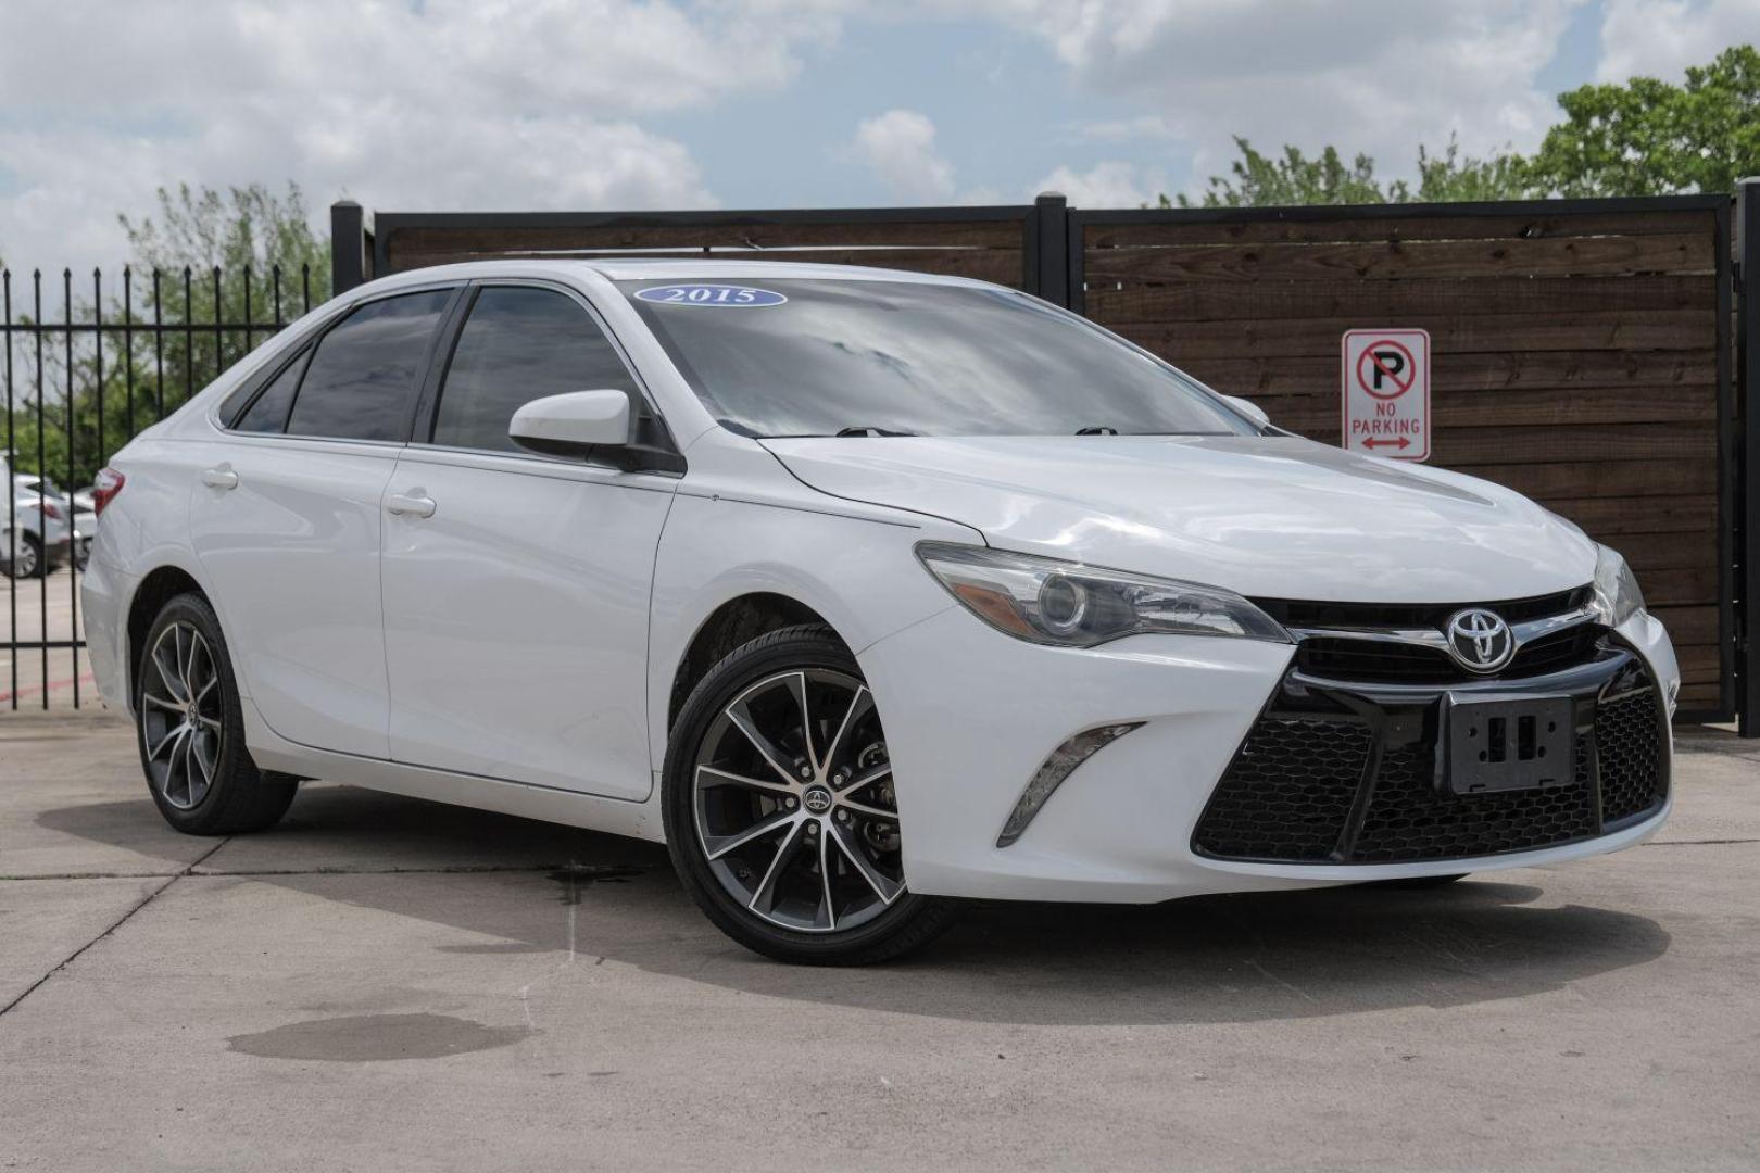
[[1125,635],[1290,635],[1234,591],[977,545],[920,542],[917,557],[966,610],[1035,644],[1093,647]]

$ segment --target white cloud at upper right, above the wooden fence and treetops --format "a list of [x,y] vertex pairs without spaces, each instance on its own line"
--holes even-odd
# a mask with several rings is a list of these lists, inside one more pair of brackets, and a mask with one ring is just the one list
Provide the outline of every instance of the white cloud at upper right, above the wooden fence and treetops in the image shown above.
[[[1230,135],[1336,144],[1382,171],[1419,142],[1529,148],[1552,121],[1536,76],[1584,0],[966,0],[1044,39],[1084,90],[1146,109],[1193,176],[1227,171]],[[1102,127],[1121,141],[1119,127]],[[1195,183],[1193,183],[1195,186]]]

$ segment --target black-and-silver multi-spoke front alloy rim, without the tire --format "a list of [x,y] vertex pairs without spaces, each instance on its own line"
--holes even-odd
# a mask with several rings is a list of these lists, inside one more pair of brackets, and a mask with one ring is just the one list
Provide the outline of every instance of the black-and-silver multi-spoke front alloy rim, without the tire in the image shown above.
[[693,790],[715,878],[773,925],[854,929],[905,892],[885,737],[852,675],[797,668],[746,688],[702,739]]

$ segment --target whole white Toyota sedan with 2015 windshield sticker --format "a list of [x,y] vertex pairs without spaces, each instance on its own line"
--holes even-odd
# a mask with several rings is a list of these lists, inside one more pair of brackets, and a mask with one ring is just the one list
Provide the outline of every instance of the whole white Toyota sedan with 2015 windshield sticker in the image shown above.
[[956,897],[1445,883],[1670,805],[1679,674],[1616,552],[979,281],[385,278],[97,503],[92,663],[178,830],[331,779],[665,841],[785,960]]

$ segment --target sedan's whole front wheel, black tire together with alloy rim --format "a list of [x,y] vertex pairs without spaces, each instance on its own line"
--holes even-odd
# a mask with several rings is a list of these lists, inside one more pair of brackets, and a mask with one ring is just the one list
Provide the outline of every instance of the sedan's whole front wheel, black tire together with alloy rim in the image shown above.
[[905,886],[880,714],[829,628],[762,635],[709,670],[672,728],[662,811],[692,899],[766,957],[862,965],[952,922]]

